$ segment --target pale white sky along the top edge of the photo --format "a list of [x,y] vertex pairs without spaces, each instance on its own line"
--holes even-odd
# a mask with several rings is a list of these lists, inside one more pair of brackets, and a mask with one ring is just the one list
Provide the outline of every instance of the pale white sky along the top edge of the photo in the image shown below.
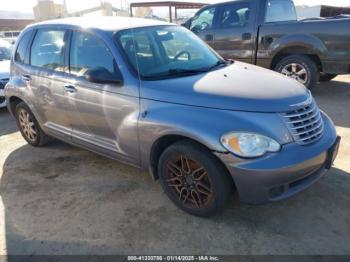
[[[125,7],[127,2],[141,2],[145,0],[108,0],[113,6],[120,8]],[[149,0],[147,0],[149,1]],[[223,0],[195,0],[197,2],[217,3]],[[193,1],[193,2],[195,2]],[[55,0],[57,3],[62,3],[63,0]],[[99,5],[100,0],[66,0],[68,11],[77,11]],[[334,6],[350,6],[350,0],[294,0],[296,5],[334,5]],[[0,11],[20,11],[31,13],[33,6],[37,0],[0,0]]]

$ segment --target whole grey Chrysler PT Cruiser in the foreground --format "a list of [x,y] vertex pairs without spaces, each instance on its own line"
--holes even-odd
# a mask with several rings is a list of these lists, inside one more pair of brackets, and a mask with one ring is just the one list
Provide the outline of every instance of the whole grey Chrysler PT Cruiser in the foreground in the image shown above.
[[27,27],[5,95],[30,145],[50,137],[149,170],[183,210],[232,191],[290,197],[331,168],[339,138],[300,83],[227,62],[187,29],[133,18]]

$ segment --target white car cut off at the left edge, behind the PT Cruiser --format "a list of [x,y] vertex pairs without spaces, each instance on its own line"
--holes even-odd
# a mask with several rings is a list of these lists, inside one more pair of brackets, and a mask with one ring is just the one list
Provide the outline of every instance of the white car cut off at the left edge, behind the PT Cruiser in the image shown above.
[[10,77],[12,45],[0,39],[0,108],[6,106],[4,88]]

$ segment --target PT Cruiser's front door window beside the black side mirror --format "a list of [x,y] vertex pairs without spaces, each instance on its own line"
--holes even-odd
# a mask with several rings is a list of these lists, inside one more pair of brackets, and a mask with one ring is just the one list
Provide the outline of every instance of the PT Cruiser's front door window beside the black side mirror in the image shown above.
[[70,51],[70,72],[84,75],[90,68],[103,67],[115,74],[115,61],[105,43],[97,37],[74,32]]

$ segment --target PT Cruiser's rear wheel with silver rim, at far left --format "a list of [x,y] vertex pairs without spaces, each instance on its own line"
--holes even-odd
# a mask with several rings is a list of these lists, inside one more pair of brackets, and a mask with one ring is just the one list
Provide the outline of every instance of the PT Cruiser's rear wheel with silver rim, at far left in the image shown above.
[[43,146],[52,138],[40,128],[38,121],[26,103],[20,102],[15,108],[17,126],[23,138],[32,146]]

